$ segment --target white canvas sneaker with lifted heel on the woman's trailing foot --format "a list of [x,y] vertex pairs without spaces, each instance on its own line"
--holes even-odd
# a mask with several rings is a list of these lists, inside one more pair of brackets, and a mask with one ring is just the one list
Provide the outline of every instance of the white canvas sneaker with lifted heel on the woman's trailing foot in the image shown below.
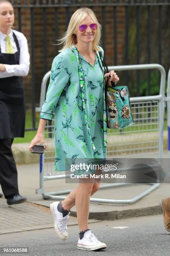
[[60,202],[53,202],[50,204],[50,209],[54,218],[55,232],[62,240],[66,240],[68,236],[67,222],[70,212],[65,217],[63,217],[62,213],[57,209],[59,203]]

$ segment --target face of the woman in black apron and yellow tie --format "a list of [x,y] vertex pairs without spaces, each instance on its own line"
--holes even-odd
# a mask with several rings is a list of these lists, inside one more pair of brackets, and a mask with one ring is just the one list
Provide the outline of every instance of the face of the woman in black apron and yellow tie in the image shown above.
[[9,28],[14,23],[14,9],[10,3],[0,3],[0,28]]

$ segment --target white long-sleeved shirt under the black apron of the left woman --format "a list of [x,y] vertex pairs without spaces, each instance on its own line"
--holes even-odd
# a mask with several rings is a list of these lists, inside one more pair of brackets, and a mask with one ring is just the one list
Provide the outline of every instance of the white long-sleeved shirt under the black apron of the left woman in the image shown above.
[[[16,65],[8,65],[5,64],[5,72],[0,71],[0,78],[5,77],[24,77],[28,75],[29,67],[30,67],[30,54],[28,52],[28,43],[27,38],[23,35],[23,33],[12,30],[9,33],[10,41],[14,49],[14,53],[18,51],[17,46],[15,44],[13,38],[13,32],[18,39],[18,44],[20,46],[20,61],[19,64]],[[6,36],[0,31],[0,49],[1,53],[6,53]],[[3,64],[3,63],[0,63]]]

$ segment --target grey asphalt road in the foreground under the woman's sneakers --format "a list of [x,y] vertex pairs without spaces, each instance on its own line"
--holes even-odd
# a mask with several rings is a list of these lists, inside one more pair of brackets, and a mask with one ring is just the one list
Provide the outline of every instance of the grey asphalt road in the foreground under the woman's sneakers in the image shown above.
[[[128,226],[115,229],[117,226]],[[107,244],[103,251],[77,250],[77,226],[69,227],[69,238],[61,241],[53,228],[0,235],[0,246],[27,246],[29,256],[170,256],[170,233],[163,216],[146,216],[90,224],[92,232]],[[2,254],[7,255],[7,254]],[[23,254],[11,254],[23,255]]]

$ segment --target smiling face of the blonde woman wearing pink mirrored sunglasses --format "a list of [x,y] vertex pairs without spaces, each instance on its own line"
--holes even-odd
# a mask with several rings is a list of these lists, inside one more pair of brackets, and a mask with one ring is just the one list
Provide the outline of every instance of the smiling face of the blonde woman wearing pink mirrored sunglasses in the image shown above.
[[83,42],[83,43],[91,43],[96,35],[96,30],[90,28],[90,24],[95,23],[94,20],[90,16],[86,16],[84,20],[80,23],[80,25],[87,25],[87,28],[85,31],[81,32],[79,30],[79,27],[75,31],[75,35],[77,36],[77,42]]

